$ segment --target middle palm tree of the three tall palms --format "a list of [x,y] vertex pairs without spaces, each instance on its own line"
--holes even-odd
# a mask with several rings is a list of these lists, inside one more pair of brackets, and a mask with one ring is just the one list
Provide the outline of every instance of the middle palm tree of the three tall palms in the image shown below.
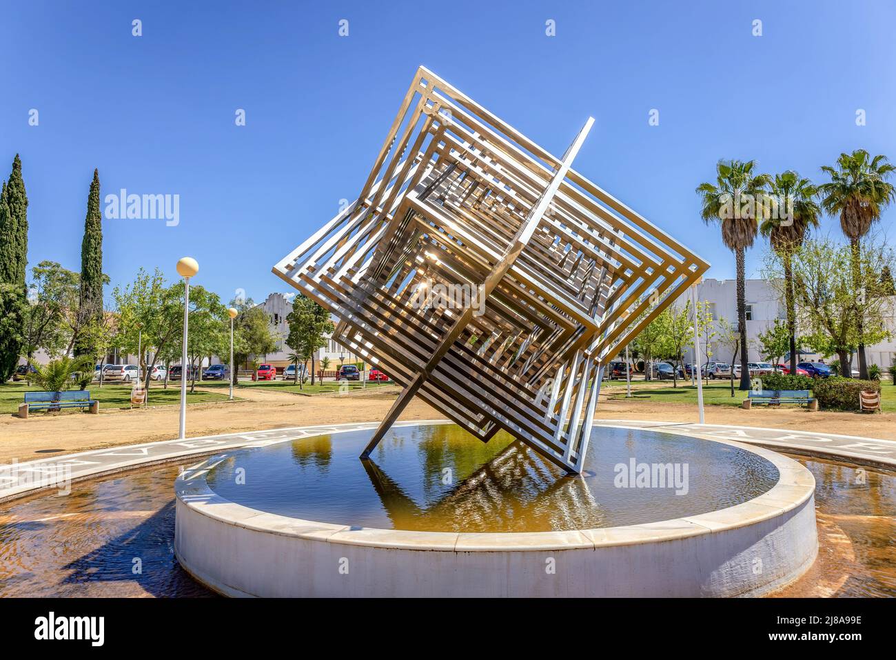
[[771,195],[779,202],[788,204],[789,213],[776,213],[777,218],[765,218],[759,227],[762,236],[771,243],[784,265],[784,303],[787,308],[787,331],[790,335],[790,373],[797,373],[797,311],[794,305],[793,253],[803,245],[810,229],[818,227],[818,217],[822,209],[815,202],[818,188],[812,181],[800,178],[797,172],[788,170],[776,174],[771,181]]

